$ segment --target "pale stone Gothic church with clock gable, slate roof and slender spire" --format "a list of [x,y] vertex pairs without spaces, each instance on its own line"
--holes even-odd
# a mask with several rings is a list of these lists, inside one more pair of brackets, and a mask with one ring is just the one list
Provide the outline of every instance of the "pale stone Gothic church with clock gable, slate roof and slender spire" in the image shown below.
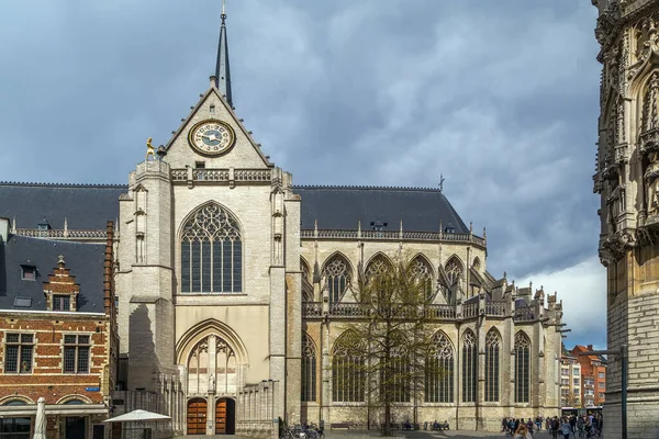
[[93,241],[118,218],[113,413],[158,410],[188,435],[268,435],[278,418],[377,428],[359,376],[335,375],[345,325],[364,318],[357,277],[404,257],[432,285],[445,372],[393,421],[499,431],[558,415],[556,294],[492,277],[484,229],[439,189],[294,185],[234,112],[224,20],[210,87],[127,184],[0,184],[10,234]]

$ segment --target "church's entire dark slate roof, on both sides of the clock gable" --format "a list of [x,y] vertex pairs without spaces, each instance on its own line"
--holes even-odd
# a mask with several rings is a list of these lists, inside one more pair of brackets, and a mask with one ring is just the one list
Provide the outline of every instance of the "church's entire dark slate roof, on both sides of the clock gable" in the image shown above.
[[[104,229],[119,216],[119,195],[126,185],[0,183],[0,217],[16,218],[18,228],[36,228],[45,217],[55,229]],[[398,230],[439,232],[439,223],[456,233],[469,233],[456,210],[438,189],[386,187],[294,187],[302,196],[303,229],[355,230],[370,223],[388,223]]]

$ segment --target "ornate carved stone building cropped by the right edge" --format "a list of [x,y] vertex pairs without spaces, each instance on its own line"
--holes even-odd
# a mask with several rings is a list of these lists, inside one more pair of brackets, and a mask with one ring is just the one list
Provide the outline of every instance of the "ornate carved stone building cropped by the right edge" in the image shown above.
[[[594,191],[607,268],[608,349],[628,346],[628,437],[659,431],[659,1],[592,0],[603,65]],[[621,437],[621,358],[604,416]]]

